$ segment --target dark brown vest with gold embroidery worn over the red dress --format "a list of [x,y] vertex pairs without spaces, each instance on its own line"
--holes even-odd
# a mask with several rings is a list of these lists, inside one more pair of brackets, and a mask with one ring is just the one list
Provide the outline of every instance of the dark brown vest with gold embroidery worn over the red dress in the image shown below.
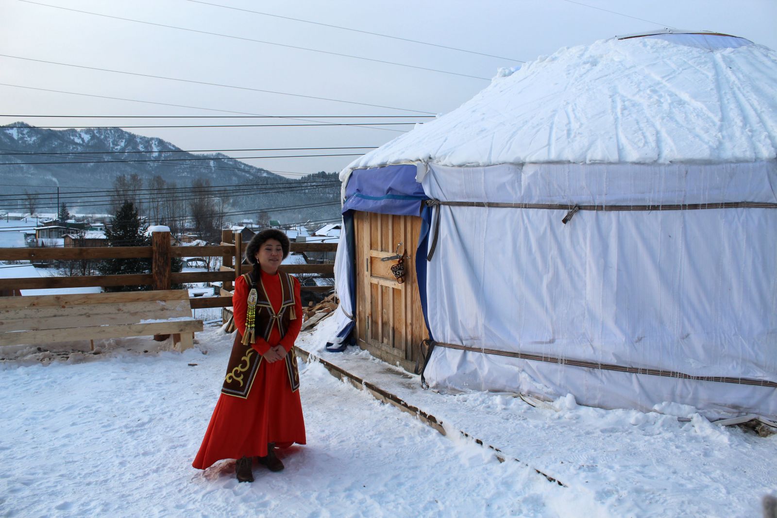
[[[262,356],[256,352],[256,349],[253,349],[251,346],[256,341],[254,333],[256,332],[263,339],[269,340],[273,328],[277,327],[280,336],[283,337],[286,334],[289,322],[298,318],[294,311],[294,305],[296,304],[294,280],[285,272],[279,271],[278,275],[280,276],[282,295],[280,310],[276,313],[273,309],[273,304],[270,304],[267,290],[264,289],[261,278],[257,284],[253,272],[243,274],[243,280],[246,281],[249,287],[246,336],[242,336],[239,331],[235,334],[235,343],[232,345],[232,355],[229,356],[227,374],[221,387],[222,394],[243,399],[248,398],[249,391],[256,377],[256,371],[259,370],[263,360]],[[291,391],[297,391],[299,388],[299,372],[297,370],[297,356],[294,353],[294,347],[287,353],[284,360]]]

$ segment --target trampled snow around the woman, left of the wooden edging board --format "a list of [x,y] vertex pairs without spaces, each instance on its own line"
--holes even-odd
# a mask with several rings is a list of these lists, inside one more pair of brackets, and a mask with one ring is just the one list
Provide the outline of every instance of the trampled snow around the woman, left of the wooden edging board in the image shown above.
[[302,367],[308,445],[287,450],[285,471],[256,466],[253,484],[238,484],[228,461],[197,471],[230,346],[215,330],[198,339],[207,355],[6,364],[0,516],[603,516],[318,364]]

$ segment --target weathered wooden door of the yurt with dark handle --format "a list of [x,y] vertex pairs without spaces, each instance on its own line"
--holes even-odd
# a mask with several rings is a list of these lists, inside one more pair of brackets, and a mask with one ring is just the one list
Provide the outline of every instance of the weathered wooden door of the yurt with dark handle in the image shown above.
[[[410,371],[418,344],[429,337],[416,281],[420,228],[420,217],[354,213],[359,346]],[[397,261],[381,260],[394,256],[397,245],[399,254],[405,252],[404,283],[398,283],[391,271]]]

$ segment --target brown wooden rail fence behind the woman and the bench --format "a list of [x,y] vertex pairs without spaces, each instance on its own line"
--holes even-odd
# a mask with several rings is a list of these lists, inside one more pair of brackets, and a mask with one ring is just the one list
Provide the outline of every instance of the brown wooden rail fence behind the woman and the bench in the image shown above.
[[[222,231],[220,245],[172,246],[169,232],[154,232],[151,246],[115,246],[83,248],[0,248],[0,261],[36,261],[82,259],[151,259],[152,273],[136,275],[85,275],[0,279],[0,290],[40,290],[74,287],[151,286],[169,290],[172,283],[205,283],[221,281],[218,297],[192,297],[193,309],[224,308],[232,305],[232,283],[251,266],[242,265],[246,244],[241,235]],[[291,243],[291,252],[335,252],[336,243]],[[171,269],[173,257],[221,257],[222,266],[213,272],[178,272]],[[237,265],[235,267],[235,265]],[[333,264],[284,265],[287,273],[317,273],[334,276]],[[332,287],[302,287],[308,291],[328,291]]]

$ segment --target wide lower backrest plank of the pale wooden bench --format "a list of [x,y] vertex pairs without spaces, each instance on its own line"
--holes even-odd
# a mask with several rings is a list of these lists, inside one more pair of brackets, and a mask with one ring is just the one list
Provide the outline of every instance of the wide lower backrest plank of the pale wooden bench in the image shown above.
[[[26,297],[25,297],[26,298]],[[150,318],[190,317],[189,301],[142,301],[120,304],[78,304],[0,309],[0,332],[57,329],[96,323],[132,323]],[[82,320],[84,323],[74,323]]]

